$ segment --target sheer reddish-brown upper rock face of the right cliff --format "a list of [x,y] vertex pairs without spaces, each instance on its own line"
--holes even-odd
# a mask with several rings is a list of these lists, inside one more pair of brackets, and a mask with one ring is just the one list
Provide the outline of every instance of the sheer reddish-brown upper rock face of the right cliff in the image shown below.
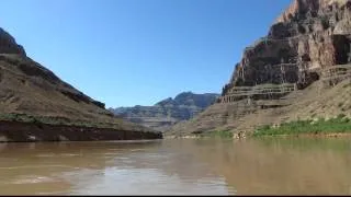
[[236,85],[298,83],[351,62],[351,1],[294,0],[265,37],[247,47],[223,94]]

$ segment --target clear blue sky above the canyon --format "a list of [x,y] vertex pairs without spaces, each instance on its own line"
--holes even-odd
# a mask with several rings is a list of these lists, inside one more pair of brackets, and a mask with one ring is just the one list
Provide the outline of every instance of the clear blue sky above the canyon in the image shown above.
[[106,107],[219,93],[290,0],[3,0],[0,26]]

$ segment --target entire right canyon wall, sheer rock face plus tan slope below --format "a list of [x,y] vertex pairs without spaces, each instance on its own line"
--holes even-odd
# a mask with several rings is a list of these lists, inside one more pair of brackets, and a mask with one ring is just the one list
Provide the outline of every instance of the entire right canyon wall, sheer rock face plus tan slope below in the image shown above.
[[[350,0],[294,0],[268,35],[245,49],[217,103],[169,134],[250,131],[298,117],[351,116],[350,81],[342,81],[350,79]],[[340,65],[349,74],[327,82],[342,85],[320,88],[325,70]]]

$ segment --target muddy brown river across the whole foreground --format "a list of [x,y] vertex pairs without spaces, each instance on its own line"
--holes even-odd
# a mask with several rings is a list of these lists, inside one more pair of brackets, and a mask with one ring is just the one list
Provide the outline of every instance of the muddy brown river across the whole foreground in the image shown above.
[[351,195],[351,139],[0,143],[0,195]]

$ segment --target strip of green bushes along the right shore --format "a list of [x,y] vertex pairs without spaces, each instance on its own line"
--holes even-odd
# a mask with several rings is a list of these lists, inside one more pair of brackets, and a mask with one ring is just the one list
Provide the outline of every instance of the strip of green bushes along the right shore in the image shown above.
[[253,137],[279,136],[279,135],[301,135],[301,134],[333,134],[351,132],[351,119],[343,114],[328,120],[319,118],[317,120],[296,120],[281,124],[278,127],[262,126],[254,130]]

